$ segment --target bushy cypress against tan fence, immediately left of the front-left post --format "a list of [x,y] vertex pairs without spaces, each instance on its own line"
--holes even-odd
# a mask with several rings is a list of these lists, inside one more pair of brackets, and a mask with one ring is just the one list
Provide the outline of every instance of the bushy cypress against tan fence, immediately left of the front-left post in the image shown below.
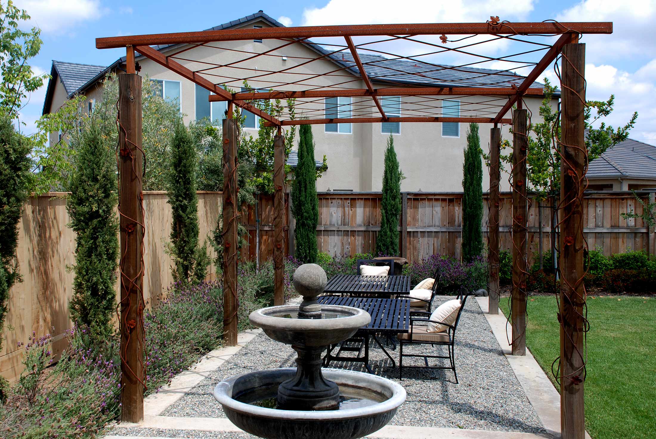
[[119,258],[116,159],[104,142],[98,124],[83,129],[73,145],[71,195],[66,210],[75,231],[75,279],[69,309],[73,322],[89,326],[92,334],[112,330]]

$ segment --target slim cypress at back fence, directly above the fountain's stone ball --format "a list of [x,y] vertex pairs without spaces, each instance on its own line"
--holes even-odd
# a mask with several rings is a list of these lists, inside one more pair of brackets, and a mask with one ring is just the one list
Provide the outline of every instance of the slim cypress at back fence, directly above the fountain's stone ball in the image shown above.
[[291,192],[291,208],[296,219],[294,231],[296,258],[303,263],[316,263],[318,259],[319,199],[317,197],[317,169],[314,161],[312,126],[301,125],[299,136],[298,166]]

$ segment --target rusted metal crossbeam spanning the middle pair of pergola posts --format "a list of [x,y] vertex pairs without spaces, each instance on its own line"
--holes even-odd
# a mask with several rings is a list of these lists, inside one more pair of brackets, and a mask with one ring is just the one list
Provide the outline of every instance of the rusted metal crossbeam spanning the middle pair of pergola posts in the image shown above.
[[[211,94],[210,102],[226,100],[258,100],[258,99],[303,99],[303,98],[363,98],[367,96],[514,96],[517,88],[510,87],[394,87],[374,88],[344,88],[342,90],[307,90],[307,91],[272,91],[272,92],[237,92],[230,98]],[[543,96],[543,88],[527,88],[524,94]]]

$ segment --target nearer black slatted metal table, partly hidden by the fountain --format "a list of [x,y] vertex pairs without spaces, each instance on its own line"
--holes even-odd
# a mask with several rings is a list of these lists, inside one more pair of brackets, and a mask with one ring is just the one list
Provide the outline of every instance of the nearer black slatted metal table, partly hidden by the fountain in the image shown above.
[[[377,299],[373,297],[340,297],[321,296],[318,298],[321,305],[343,305],[363,309],[371,315],[371,322],[356,332],[354,337],[328,347],[324,358],[324,365],[328,366],[331,361],[359,362],[364,363],[367,372],[373,373],[369,366],[369,337],[379,345],[380,349],[392,360],[392,366],[396,368],[394,358],[380,343],[377,334],[394,335],[407,333],[410,330],[410,301],[408,299]],[[333,351],[339,347],[337,354]],[[395,346],[396,348],[396,346]],[[362,355],[362,351],[364,354]],[[342,356],[342,352],[357,352],[356,356]]]

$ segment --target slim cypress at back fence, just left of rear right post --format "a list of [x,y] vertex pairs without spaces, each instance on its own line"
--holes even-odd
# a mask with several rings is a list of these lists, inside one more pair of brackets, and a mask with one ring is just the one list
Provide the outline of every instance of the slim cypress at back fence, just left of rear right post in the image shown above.
[[470,123],[462,165],[462,260],[470,262],[483,253],[483,164],[478,123]]

